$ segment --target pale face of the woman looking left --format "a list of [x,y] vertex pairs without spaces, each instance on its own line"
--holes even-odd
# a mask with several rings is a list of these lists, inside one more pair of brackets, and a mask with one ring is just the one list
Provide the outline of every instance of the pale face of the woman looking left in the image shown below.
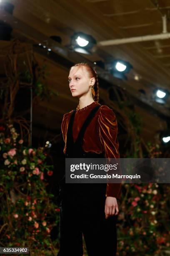
[[69,87],[73,97],[81,97],[90,93],[90,84],[93,86],[95,78],[89,78],[84,66],[74,67],[68,77]]

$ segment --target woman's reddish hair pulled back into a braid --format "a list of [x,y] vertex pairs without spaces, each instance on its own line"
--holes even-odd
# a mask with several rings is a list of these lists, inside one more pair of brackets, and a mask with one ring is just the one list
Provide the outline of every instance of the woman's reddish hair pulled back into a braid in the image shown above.
[[94,90],[95,90],[95,95],[94,95],[94,97],[92,95],[92,97],[93,97],[93,100],[95,102],[99,102],[99,82],[98,82],[97,72],[95,71],[95,69],[93,69],[89,64],[83,63],[83,62],[75,64],[74,66],[72,66],[70,68],[70,70],[73,67],[85,67],[89,77],[90,78],[93,78],[93,77],[95,78],[95,84],[94,84],[94,87],[93,87]]

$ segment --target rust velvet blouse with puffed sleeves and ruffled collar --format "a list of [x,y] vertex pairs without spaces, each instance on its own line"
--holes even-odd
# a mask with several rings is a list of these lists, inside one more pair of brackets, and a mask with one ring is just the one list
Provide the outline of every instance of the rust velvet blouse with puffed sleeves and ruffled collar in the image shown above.
[[[80,128],[84,123],[87,115],[90,111],[96,106],[100,105],[97,102],[92,102],[90,105],[87,105],[85,108],[81,108],[76,111],[75,119],[73,123],[73,138],[74,142],[80,132]],[[66,113],[63,116],[62,120],[62,135],[65,141],[64,154],[66,151],[66,140],[67,140],[67,128],[70,120],[70,115],[73,110],[69,113]],[[84,139],[83,139],[83,150],[85,152],[95,152],[97,154],[105,152],[105,158],[120,158],[118,151],[119,143],[117,141],[117,120],[115,113],[112,109],[106,105],[102,105],[95,117],[92,119],[88,125]],[[107,197],[116,197],[120,199],[121,195],[121,183],[107,183],[106,196]]]

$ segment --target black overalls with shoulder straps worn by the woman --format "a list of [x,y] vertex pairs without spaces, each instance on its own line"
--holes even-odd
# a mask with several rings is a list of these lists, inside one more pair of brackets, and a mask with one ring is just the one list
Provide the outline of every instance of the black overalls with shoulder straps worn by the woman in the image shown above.
[[[101,105],[93,108],[82,125],[74,143],[72,135],[76,110],[73,110],[67,130],[66,158],[105,158],[101,154],[85,152],[82,149],[87,126]],[[106,183],[59,182],[60,208],[60,251],[57,256],[82,256],[82,234],[88,256],[115,256],[117,249],[117,215],[105,219]]]

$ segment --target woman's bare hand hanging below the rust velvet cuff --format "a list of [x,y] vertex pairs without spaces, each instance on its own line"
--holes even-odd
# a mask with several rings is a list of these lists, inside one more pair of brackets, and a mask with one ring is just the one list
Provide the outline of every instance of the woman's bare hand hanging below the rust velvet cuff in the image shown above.
[[[116,210],[116,213],[115,213]],[[116,197],[106,197],[105,201],[105,218],[107,219],[109,216],[118,215],[119,208],[117,205]]]

